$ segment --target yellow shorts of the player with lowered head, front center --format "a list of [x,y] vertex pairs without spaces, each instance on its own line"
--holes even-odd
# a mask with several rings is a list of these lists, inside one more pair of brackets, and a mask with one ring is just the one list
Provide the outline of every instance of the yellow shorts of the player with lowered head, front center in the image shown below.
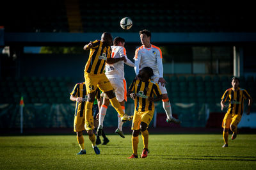
[[140,129],[140,123],[143,121],[144,123],[147,123],[149,125],[150,121],[152,120],[154,116],[154,111],[136,111],[134,109],[133,114],[133,120],[132,120],[132,130],[139,130]]

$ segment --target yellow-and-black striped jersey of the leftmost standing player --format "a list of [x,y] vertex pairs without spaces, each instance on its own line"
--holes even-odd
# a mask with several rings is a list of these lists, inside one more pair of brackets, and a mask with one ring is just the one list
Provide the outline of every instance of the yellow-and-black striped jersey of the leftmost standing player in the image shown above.
[[[76,110],[75,110],[75,116],[80,115],[80,117],[83,117],[83,113],[85,112],[85,104],[87,101],[87,92],[86,92],[86,86],[85,82],[77,83],[74,87],[73,91],[70,93],[70,95],[74,97],[81,97],[83,98],[83,102],[76,102]],[[100,89],[96,89],[96,98],[100,98]]]

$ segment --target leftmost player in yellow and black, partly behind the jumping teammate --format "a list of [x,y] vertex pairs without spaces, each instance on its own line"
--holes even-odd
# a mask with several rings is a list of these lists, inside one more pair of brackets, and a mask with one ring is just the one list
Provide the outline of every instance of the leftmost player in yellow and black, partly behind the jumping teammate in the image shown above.
[[[99,88],[95,90],[95,94],[97,99],[100,100],[100,91]],[[75,110],[75,118],[74,118],[74,132],[77,134],[77,142],[81,148],[77,155],[86,154],[86,150],[84,149],[84,137],[83,137],[83,130],[84,128],[84,118],[85,118],[85,103],[87,100],[87,93],[85,82],[77,83],[74,87],[73,91],[70,93],[70,100],[76,101],[76,110]],[[88,130],[87,130],[88,132]],[[88,132],[89,134],[89,132]],[[95,144],[95,136],[93,139],[92,135],[89,135],[89,139],[92,142],[92,147],[95,153],[98,155],[100,154],[100,150]]]

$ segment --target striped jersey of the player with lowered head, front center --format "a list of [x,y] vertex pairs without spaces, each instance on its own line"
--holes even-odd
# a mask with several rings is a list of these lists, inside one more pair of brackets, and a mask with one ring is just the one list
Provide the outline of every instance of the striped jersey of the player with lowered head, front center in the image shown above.
[[154,102],[150,102],[148,97],[154,97],[154,95],[159,97],[162,95],[158,84],[152,80],[143,82],[134,79],[129,90],[136,94],[134,99],[136,111],[154,111]]

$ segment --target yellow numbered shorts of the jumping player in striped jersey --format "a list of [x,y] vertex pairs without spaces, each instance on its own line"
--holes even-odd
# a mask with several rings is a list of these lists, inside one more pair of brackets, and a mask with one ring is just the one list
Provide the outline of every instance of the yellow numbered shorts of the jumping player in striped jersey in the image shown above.
[[84,79],[87,93],[92,93],[93,91],[95,91],[97,89],[97,86],[102,92],[113,90],[105,73],[93,74],[84,72]]

